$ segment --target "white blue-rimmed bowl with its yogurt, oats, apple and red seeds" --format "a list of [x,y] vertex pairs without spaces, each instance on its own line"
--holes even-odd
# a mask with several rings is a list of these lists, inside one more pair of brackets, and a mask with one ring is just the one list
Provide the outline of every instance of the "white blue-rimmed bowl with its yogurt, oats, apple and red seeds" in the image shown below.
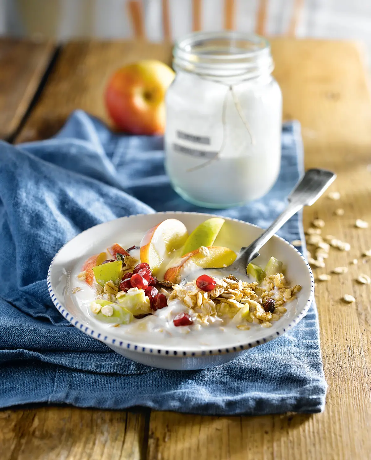
[[226,276],[261,232],[202,213],[116,219],[60,249],[49,292],[76,328],[125,357],[168,369],[215,366],[284,334],[313,299],[307,262],[278,236],[246,273]]

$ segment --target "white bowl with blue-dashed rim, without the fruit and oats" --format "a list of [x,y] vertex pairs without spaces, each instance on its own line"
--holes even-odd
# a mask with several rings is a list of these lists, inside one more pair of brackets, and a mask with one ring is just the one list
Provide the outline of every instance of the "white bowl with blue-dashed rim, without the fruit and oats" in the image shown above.
[[[75,236],[66,243],[54,256],[48,271],[48,290],[58,311],[76,328],[85,334],[98,339],[117,353],[133,361],[165,369],[190,370],[209,368],[235,358],[242,350],[262,345],[269,340],[287,332],[306,315],[313,300],[314,279],[312,271],[295,247],[279,236],[273,236],[261,249],[261,255],[256,263],[265,265],[267,260],[274,256],[284,262],[291,286],[300,284],[302,289],[297,295],[297,301],[287,306],[287,313],[278,321],[272,322],[271,328],[262,328],[253,325],[248,331],[243,331],[234,343],[218,343],[218,345],[194,345],[190,341],[162,339],[162,344],[147,343],[143,337],[133,337],[125,334],[121,328],[112,328],[103,324],[88,314],[87,307],[83,306],[84,299],[92,296],[90,288],[81,293],[71,291],[79,284],[76,275],[88,257],[94,253],[104,251],[115,242],[124,242],[125,235],[134,232],[138,241],[146,230],[162,222],[164,219],[175,218],[181,220],[188,231],[194,230],[198,224],[212,217],[204,213],[156,213],[139,214],[122,217],[104,224],[96,225]],[[247,246],[262,232],[262,229],[246,222],[226,218],[218,244],[238,251]],[[125,242],[126,243],[126,242]],[[128,246],[138,242],[128,242]],[[85,297],[84,297],[85,296]],[[241,332],[241,331],[240,331]]]

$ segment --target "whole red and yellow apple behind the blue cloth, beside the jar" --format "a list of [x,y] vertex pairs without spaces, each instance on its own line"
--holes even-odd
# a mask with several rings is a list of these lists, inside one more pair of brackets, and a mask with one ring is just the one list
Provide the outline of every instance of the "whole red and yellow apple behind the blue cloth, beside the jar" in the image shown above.
[[105,91],[105,104],[116,126],[133,134],[163,134],[165,93],[174,71],[157,60],[143,60],[116,70]]

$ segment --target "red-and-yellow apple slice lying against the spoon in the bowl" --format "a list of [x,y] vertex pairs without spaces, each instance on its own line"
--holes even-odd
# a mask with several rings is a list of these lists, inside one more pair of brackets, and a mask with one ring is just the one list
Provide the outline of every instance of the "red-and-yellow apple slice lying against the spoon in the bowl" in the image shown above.
[[164,280],[176,283],[180,276],[180,271],[184,268],[185,264],[192,262],[200,268],[221,268],[232,265],[235,261],[237,254],[228,247],[223,246],[209,246],[209,255],[204,256],[197,249],[189,254],[185,254],[180,263],[176,267],[169,268],[165,273]]

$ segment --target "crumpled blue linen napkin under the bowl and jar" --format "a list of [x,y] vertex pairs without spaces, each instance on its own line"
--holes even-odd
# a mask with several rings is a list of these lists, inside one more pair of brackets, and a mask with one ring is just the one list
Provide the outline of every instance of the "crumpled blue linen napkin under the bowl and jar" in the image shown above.
[[[280,176],[267,196],[218,213],[267,227],[303,171],[297,122],[284,125],[282,155]],[[124,358],[58,313],[46,288],[58,249],[92,225],[154,211],[207,212],[171,189],[161,137],[112,134],[76,111],[52,139],[0,143],[0,407],[142,405],[254,415],[323,410],[327,385],[314,304],[284,336],[232,362],[187,372]],[[301,239],[301,216],[280,234]]]

